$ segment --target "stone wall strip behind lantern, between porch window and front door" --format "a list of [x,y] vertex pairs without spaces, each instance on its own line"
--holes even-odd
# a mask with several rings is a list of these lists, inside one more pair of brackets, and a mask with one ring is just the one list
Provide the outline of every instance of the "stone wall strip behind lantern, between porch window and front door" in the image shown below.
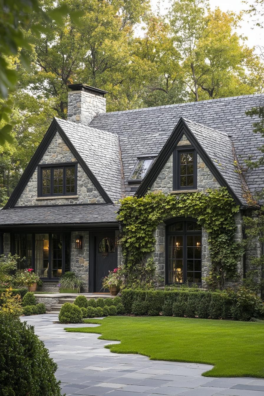
[[[83,237],[83,248],[75,248],[77,236]],[[82,290],[88,292],[89,280],[89,232],[72,231],[71,233],[71,250],[70,250],[70,270],[75,272],[76,276],[83,282]]]

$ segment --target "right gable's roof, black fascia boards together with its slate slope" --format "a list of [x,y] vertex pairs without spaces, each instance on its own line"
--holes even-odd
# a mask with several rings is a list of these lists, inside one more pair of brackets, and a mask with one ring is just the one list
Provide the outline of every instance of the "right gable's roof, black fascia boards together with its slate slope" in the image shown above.
[[235,173],[233,165],[232,144],[228,135],[184,118],[180,118],[173,133],[143,179],[136,195],[142,196],[147,192],[183,135],[196,149],[219,184],[228,189],[238,204],[245,204],[241,179]]

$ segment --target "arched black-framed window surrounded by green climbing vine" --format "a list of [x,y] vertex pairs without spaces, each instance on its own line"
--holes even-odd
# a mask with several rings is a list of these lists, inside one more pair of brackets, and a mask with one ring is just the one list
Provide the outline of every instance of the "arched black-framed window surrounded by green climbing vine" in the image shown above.
[[201,226],[180,220],[167,225],[167,284],[201,283]]

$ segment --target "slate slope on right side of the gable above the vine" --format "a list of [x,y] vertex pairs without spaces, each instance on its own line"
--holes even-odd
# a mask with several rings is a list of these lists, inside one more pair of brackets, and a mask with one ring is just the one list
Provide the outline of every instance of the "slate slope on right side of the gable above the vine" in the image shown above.
[[232,142],[228,134],[224,131],[208,128],[198,122],[192,122],[183,118],[194,137],[198,140],[201,147],[211,158],[217,169],[220,171],[228,185],[232,188],[239,200],[246,204],[243,198],[243,180],[234,166],[234,151]]

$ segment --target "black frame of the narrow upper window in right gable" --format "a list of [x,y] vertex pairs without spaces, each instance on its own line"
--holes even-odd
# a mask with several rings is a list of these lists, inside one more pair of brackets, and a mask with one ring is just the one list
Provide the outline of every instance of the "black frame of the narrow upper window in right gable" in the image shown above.
[[[182,187],[180,185],[180,154],[190,152],[194,154],[194,184]],[[192,146],[176,147],[173,150],[173,190],[196,190],[197,188],[197,151]]]

